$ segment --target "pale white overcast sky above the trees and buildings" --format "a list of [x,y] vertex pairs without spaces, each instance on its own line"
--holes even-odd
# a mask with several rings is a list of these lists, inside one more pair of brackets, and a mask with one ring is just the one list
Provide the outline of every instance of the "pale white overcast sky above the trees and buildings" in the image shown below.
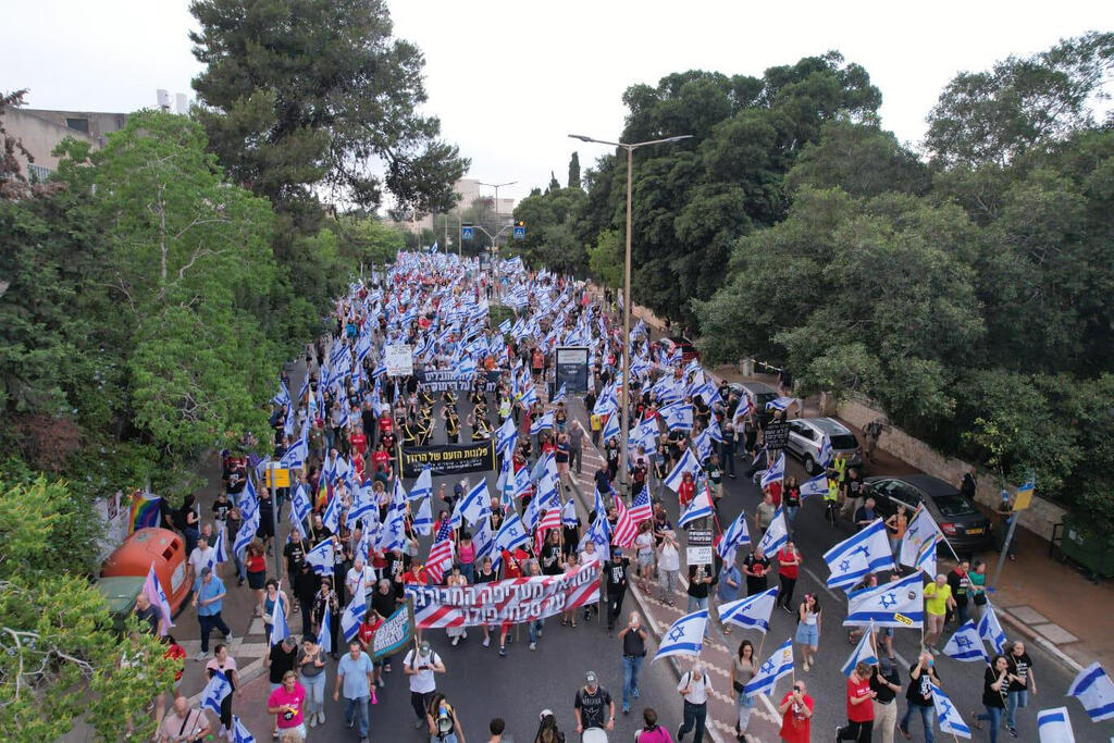
[[[36,108],[131,111],[155,90],[193,97],[199,66],[188,0],[6,0],[0,89],[30,88]],[[472,160],[468,174],[517,180],[525,196],[568,158],[615,138],[627,86],[688,69],[761,76],[838,49],[882,91],[882,124],[911,144],[960,70],[981,70],[1064,37],[1114,28],[1114,2],[618,2],[390,0],[395,35],[426,53],[427,110]],[[681,133],[678,133],[681,134]]]

